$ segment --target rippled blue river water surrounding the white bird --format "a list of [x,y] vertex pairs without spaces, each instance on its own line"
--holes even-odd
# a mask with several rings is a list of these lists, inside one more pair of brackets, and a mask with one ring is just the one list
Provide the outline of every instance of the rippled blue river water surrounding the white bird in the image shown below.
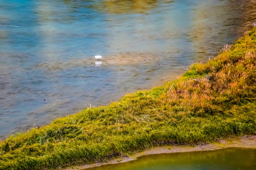
[[207,61],[252,28],[255,7],[255,0],[0,0],[0,140],[176,78],[182,65]]

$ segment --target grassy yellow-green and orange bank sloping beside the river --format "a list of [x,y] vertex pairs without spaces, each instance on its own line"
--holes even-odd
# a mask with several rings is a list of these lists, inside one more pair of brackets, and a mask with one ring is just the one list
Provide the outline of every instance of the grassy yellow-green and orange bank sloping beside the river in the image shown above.
[[0,142],[0,170],[56,169],[159,144],[252,134],[256,28],[206,64],[192,65],[174,82],[10,136]]

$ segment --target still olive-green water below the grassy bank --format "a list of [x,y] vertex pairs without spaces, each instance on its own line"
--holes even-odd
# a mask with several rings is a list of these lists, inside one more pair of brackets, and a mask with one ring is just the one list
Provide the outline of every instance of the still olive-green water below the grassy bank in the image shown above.
[[145,155],[135,161],[86,170],[255,170],[256,149],[227,148],[216,151]]

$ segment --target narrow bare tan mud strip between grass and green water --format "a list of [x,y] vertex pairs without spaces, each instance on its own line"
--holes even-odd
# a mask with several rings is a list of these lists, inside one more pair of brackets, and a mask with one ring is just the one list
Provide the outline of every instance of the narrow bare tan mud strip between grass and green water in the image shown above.
[[162,154],[162,153],[187,153],[199,151],[213,151],[226,149],[229,147],[256,149],[256,136],[232,136],[221,140],[214,141],[209,144],[171,144],[154,146],[142,152],[135,152],[129,156],[121,155],[110,159],[106,162],[86,163],[82,165],[69,166],[61,170],[85,170],[89,168],[112,165],[117,163],[125,163],[133,161],[144,155]]

